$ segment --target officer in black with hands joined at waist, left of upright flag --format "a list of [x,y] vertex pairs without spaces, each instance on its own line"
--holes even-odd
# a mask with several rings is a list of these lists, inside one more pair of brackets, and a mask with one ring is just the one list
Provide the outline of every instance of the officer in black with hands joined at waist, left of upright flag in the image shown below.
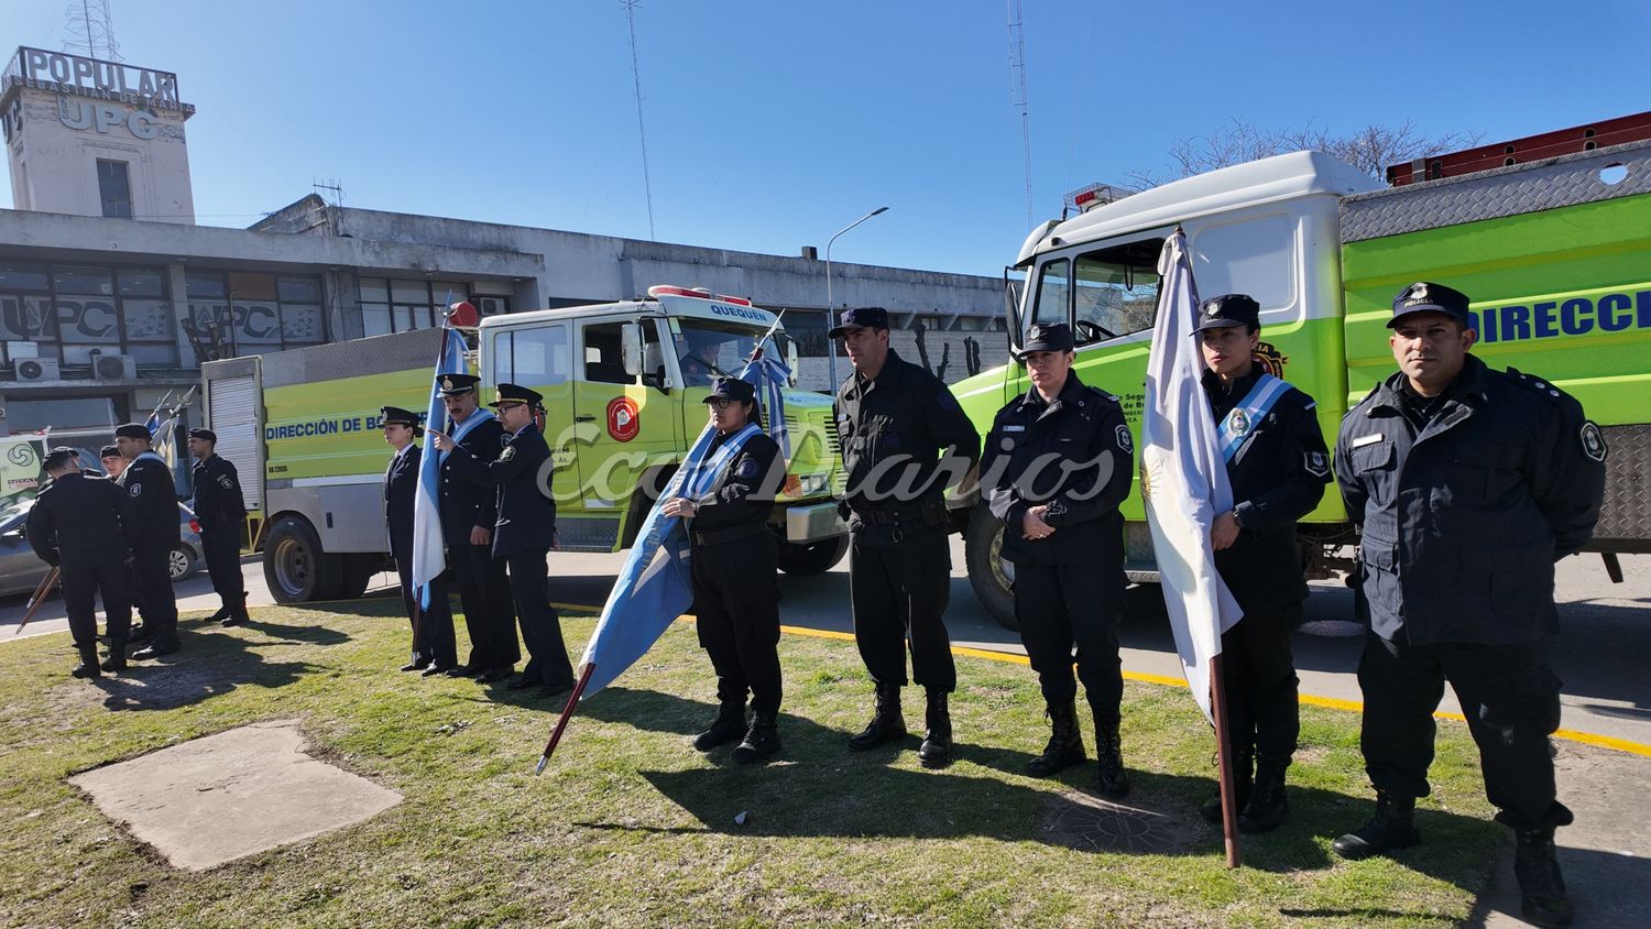
[[1037,777],[1085,761],[1078,726],[1078,648],[1095,714],[1098,787],[1129,792],[1118,724],[1124,696],[1118,624],[1124,607],[1124,525],[1134,442],[1118,398],[1071,370],[1071,330],[1034,325],[1020,350],[1032,388],[992,419],[981,490],[1004,523],[1002,556],[1015,566],[1015,619],[1038,675],[1052,734],[1027,764]]

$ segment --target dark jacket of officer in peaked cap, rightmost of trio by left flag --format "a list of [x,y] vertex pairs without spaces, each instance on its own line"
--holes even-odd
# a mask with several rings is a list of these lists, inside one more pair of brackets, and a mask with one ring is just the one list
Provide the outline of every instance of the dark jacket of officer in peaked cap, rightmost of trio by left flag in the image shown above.
[[462,446],[447,454],[444,469],[452,469],[462,480],[497,493],[494,558],[518,551],[550,551],[556,531],[556,502],[550,498],[550,469],[545,467],[548,460],[550,446],[532,422],[505,439],[505,447],[495,460],[484,462]]

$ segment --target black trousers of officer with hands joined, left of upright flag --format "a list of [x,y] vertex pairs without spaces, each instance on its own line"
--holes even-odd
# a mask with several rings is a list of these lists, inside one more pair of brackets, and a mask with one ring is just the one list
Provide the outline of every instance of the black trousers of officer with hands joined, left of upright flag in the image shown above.
[[[1015,564],[1015,619],[1020,642],[1037,672],[1043,700],[1065,705],[1083,681],[1090,706],[1116,714],[1124,698],[1118,622],[1124,611],[1124,576],[1098,564]],[[1071,650],[1078,648],[1078,677]]]

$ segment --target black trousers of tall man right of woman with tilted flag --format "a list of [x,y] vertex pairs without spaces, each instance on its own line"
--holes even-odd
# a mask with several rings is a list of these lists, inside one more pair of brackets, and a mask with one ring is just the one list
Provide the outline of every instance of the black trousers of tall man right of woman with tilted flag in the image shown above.
[[939,693],[958,688],[946,634],[951,599],[951,549],[946,536],[903,541],[896,546],[849,546],[849,597],[854,606],[854,642],[872,680],[906,683],[906,642],[911,644],[911,681]]

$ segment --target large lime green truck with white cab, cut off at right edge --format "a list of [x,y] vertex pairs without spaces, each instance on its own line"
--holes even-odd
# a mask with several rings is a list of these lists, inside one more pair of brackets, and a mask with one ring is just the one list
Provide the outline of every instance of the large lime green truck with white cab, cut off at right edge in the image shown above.
[[[1273,375],[1313,394],[1334,442],[1351,404],[1390,375],[1385,323],[1413,281],[1474,299],[1489,365],[1549,378],[1582,401],[1610,446],[1605,508],[1592,551],[1651,551],[1651,142],[1631,142],[1456,178],[1379,188],[1317,152],[1296,152],[1167,183],[1032,231],[1014,266],[1009,340],[1034,322],[1067,322],[1076,371],[1119,396],[1139,431],[1157,304],[1157,256],[1176,226],[1204,295],[1261,304]],[[1029,386],[1010,361],[953,384],[984,436]],[[974,495],[951,502],[969,579],[1014,625],[1002,525]],[[1139,493],[1124,503],[1131,579],[1156,581]],[[1357,541],[1341,497],[1301,525],[1314,578],[1349,568]]]

